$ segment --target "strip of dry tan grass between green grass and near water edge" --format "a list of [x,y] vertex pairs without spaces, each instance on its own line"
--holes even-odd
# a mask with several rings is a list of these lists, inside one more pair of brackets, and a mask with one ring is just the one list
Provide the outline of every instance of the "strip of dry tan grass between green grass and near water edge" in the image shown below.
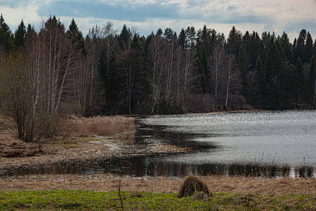
[[[176,193],[183,182],[179,177],[117,177],[95,175],[26,175],[0,178],[1,191],[86,190],[117,191],[121,179],[122,191]],[[240,194],[303,194],[316,196],[316,179],[260,177],[199,177],[213,193]]]

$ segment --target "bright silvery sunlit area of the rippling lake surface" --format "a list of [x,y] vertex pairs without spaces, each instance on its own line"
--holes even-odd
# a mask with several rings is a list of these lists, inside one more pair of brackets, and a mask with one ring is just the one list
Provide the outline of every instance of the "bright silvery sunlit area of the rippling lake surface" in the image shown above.
[[170,156],[186,164],[316,165],[315,111],[261,111],[164,115],[142,120],[180,134],[197,134],[192,141],[216,148]]

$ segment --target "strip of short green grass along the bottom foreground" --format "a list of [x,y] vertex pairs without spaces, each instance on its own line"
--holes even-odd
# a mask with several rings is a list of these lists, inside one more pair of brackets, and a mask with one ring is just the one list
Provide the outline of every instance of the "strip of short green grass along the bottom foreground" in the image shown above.
[[[178,198],[176,193],[122,191],[124,210],[315,210],[315,196],[240,195]],[[121,210],[119,193],[0,191],[0,210]]]

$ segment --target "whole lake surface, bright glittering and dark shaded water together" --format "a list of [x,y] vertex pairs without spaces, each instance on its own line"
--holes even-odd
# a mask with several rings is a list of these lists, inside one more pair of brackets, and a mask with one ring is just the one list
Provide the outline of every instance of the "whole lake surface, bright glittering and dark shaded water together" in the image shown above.
[[[163,141],[191,153],[60,163],[22,174],[316,177],[316,111],[156,115],[136,120],[136,144]],[[149,141],[150,140],[150,141]]]

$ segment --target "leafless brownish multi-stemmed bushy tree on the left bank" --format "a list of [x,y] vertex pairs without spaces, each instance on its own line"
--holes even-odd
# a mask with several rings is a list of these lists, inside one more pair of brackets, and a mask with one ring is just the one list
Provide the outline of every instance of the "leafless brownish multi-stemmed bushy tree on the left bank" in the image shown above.
[[16,124],[16,134],[23,141],[32,141],[32,75],[26,54],[10,53],[1,65],[1,111]]

